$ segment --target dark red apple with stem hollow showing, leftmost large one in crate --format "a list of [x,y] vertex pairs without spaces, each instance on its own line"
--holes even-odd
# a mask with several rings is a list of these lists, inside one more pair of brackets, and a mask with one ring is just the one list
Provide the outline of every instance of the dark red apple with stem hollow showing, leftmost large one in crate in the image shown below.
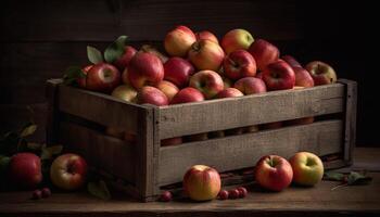
[[118,69],[107,63],[93,65],[86,76],[86,88],[99,92],[111,92],[122,82]]

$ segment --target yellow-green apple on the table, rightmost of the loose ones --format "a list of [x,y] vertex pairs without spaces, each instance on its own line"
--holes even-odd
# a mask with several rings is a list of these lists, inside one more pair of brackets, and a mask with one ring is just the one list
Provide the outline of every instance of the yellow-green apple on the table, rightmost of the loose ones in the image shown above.
[[311,152],[299,152],[289,159],[293,168],[293,182],[301,186],[315,186],[324,177],[324,164]]

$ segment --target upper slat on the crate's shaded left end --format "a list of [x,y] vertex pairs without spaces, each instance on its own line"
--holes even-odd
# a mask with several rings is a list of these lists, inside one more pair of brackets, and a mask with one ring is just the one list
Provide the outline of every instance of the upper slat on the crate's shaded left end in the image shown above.
[[117,100],[111,95],[81,90],[61,85],[59,87],[59,108],[104,126],[138,130],[140,111],[145,107]]

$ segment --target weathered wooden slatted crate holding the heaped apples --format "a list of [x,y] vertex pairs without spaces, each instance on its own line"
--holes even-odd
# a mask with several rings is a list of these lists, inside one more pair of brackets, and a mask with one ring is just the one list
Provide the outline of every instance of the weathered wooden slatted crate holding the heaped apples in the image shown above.
[[[83,154],[105,177],[141,201],[180,182],[194,164],[218,171],[254,166],[266,154],[297,151],[339,156],[327,168],[352,163],[355,143],[355,81],[300,90],[273,91],[169,106],[138,105],[106,94],[47,81],[50,101],[48,141]],[[308,125],[161,146],[162,139],[316,116]],[[104,126],[136,132],[131,144],[104,133]]]

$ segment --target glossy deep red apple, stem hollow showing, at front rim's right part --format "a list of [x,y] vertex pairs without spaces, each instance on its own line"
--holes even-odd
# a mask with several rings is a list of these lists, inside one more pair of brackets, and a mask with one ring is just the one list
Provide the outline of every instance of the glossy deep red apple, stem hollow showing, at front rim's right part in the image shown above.
[[263,71],[263,79],[269,90],[292,89],[295,85],[293,68],[284,61],[267,65]]

